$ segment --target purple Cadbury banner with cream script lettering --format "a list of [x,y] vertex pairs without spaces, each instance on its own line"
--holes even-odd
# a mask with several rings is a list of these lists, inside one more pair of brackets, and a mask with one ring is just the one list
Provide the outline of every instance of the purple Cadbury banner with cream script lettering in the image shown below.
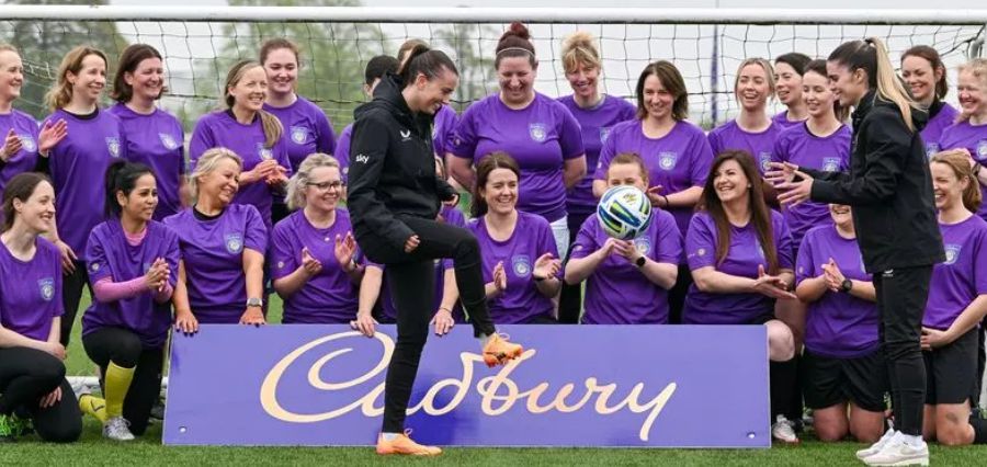
[[[503,326],[487,368],[468,326],[430,337],[407,426],[468,446],[769,447],[760,326]],[[395,328],[203,326],[175,333],[166,444],[370,445]]]

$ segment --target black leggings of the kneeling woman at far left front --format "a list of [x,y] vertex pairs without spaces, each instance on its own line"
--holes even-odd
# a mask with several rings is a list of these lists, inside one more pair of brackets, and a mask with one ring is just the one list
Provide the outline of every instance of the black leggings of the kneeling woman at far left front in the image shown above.
[[[41,398],[61,387],[61,400],[42,409]],[[79,402],[65,379],[65,365],[53,355],[27,348],[0,349],[0,413],[31,415],[44,441],[71,443],[82,433]]]

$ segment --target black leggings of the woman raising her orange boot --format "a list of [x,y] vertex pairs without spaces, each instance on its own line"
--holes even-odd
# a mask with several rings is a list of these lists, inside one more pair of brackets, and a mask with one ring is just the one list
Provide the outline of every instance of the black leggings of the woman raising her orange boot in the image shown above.
[[452,258],[463,308],[475,335],[495,332],[487,311],[483,260],[476,237],[466,229],[418,217],[401,219],[420,242],[411,253],[394,248],[375,236],[358,239],[374,262],[387,267],[387,284],[397,306],[397,343],[384,385],[384,432],[400,433],[411,387],[418,374],[421,350],[429,338],[435,291],[434,260]]

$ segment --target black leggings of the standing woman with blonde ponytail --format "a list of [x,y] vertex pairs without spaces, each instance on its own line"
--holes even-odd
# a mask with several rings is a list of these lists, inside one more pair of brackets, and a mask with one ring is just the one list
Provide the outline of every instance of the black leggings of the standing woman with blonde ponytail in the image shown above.
[[877,272],[874,288],[881,315],[878,334],[887,360],[895,426],[908,435],[922,434],[926,364],[921,329],[932,266]]

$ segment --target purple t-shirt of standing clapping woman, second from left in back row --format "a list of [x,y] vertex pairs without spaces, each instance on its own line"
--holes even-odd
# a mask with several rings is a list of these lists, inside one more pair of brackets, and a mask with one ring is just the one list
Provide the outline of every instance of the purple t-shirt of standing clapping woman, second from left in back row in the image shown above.
[[58,209],[58,235],[80,261],[86,261],[89,232],[104,220],[106,168],[115,158],[127,157],[126,134],[120,118],[106,111],[77,116],[57,110],[45,118],[52,125],[68,124],[68,135],[48,155]]

